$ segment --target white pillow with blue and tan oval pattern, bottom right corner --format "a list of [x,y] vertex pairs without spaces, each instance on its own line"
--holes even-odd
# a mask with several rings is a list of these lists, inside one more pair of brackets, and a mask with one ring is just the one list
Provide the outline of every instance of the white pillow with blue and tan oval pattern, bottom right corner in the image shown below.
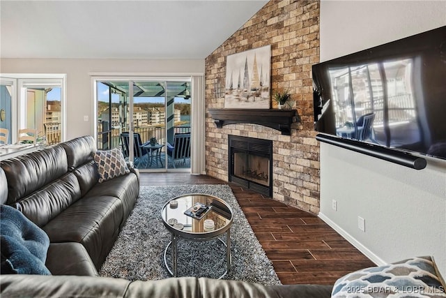
[[433,258],[419,257],[347,274],[332,297],[446,297],[446,285]]

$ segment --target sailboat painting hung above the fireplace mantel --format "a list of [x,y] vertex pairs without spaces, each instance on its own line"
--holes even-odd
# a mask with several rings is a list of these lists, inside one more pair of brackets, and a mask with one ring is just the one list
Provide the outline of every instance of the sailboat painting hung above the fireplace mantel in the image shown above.
[[269,109],[271,45],[226,57],[224,107]]

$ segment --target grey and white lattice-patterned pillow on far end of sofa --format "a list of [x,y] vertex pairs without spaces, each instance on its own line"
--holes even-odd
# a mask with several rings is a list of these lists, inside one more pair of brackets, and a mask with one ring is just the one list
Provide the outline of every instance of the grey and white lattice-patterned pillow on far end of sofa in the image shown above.
[[93,159],[98,165],[99,183],[130,173],[121,149],[94,151]]

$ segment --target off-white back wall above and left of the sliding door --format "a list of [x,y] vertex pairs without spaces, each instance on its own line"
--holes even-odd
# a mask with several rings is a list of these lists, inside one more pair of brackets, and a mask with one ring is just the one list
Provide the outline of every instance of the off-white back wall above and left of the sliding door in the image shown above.
[[67,140],[93,135],[91,73],[204,73],[204,59],[1,59],[0,66],[0,73],[67,74]]

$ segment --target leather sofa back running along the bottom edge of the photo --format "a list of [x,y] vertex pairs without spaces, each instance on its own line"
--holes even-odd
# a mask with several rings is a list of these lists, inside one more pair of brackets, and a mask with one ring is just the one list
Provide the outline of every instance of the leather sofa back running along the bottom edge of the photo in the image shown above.
[[258,285],[243,281],[180,277],[127,281],[89,276],[1,276],[1,297],[325,298],[330,285]]

